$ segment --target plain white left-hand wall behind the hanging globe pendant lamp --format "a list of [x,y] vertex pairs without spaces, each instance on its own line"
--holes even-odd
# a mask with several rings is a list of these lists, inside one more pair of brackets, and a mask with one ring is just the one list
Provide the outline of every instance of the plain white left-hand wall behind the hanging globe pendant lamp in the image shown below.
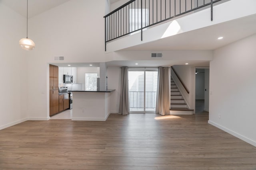
[[4,6],[1,1],[0,23],[0,129],[4,129],[28,117],[26,55],[31,51],[19,47],[19,40],[26,38],[26,19]]

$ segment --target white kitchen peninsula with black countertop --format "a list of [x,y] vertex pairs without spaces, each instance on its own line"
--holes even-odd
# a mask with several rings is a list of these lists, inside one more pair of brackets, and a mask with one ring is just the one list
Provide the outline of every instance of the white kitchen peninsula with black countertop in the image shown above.
[[106,121],[110,114],[110,96],[114,90],[69,90],[73,93],[72,120]]

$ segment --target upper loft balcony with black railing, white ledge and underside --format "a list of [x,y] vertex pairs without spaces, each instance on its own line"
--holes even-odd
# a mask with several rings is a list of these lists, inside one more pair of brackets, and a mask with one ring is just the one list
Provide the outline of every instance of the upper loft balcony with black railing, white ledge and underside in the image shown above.
[[[106,52],[212,50],[255,33],[255,0],[130,0],[105,18]],[[228,36],[222,42],[216,37]]]

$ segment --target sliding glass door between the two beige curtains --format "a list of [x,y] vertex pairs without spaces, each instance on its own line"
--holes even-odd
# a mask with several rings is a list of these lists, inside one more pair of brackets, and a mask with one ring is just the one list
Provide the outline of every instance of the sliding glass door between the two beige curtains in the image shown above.
[[157,77],[157,68],[129,68],[130,113],[155,113]]

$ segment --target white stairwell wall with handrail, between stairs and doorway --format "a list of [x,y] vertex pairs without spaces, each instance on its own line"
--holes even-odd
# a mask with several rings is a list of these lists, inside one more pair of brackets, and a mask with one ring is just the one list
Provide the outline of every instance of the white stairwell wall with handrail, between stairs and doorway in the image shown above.
[[184,99],[190,109],[194,109],[194,66],[175,65],[173,68],[189,91],[189,94],[183,94]]

